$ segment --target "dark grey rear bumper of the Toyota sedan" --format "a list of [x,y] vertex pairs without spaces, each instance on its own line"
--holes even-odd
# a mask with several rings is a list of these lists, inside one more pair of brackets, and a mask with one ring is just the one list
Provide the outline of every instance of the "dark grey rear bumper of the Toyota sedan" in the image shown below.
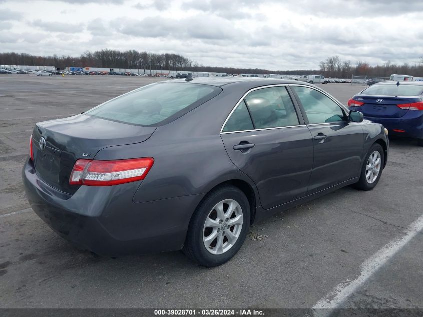
[[134,203],[138,182],[81,186],[71,196],[44,183],[31,160],[22,178],[30,205],[41,219],[63,238],[103,256],[181,249],[192,212],[202,198]]

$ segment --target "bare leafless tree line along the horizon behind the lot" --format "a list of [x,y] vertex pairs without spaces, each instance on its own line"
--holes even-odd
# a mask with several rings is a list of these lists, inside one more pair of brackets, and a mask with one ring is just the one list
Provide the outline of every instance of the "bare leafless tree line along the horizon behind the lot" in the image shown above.
[[156,54],[147,51],[118,51],[103,49],[100,51],[86,51],[80,56],[36,56],[27,53],[0,53],[1,65],[34,65],[65,67],[102,67],[113,69],[156,69],[156,70],[181,70],[194,72],[216,72],[228,74],[292,74],[309,75],[321,74],[331,78],[350,78],[351,75],[367,77],[389,77],[390,74],[405,74],[423,77],[423,58],[414,65],[392,64],[389,61],[383,65],[371,66],[364,61],[352,64],[342,61],[337,55],[328,57],[320,62],[319,70],[285,70],[269,71],[266,69],[211,67],[203,66],[182,55],[174,53]]

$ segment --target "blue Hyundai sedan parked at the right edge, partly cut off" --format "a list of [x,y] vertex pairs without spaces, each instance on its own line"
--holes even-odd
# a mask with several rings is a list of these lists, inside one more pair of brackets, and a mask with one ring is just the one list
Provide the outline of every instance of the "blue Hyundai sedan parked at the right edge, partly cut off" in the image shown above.
[[348,107],[383,124],[390,134],[416,138],[423,146],[423,82],[377,83],[348,100]]

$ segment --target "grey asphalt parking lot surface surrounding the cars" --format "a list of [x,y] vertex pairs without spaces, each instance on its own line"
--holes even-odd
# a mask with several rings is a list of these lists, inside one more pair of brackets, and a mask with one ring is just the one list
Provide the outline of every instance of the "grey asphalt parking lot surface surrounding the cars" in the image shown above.
[[[339,298],[340,307],[423,308],[423,148],[409,139],[391,139],[374,190],[342,188],[257,223],[220,267],[181,252],[96,257],[56,235],[29,208],[21,181],[34,124],[153,81],[0,75],[0,307],[310,308]],[[363,87],[321,88],[346,103]],[[344,293],[336,288],[350,281]]]

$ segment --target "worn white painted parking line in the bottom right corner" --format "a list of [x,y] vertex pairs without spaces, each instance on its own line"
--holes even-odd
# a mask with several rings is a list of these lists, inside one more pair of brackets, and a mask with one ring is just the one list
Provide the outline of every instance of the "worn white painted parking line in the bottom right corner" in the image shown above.
[[[336,285],[330,292],[322,297],[313,305],[314,315],[327,316],[332,312],[332,309],[338,308],[339,305],[347,299],[358,287],[360,287],[368,278],[374,274],[380,267],[382,267],[392,256],[395,255],[408,241],[410,241],[416,234],[423,229],[423,215],[411,223],[405,230],[405,234],[398,236],[388,242],[380,250],[374,253],[371,257],[365,260],[361,265],[360,275],[353,279],[346,279],[345,281]],[[318,310],[319,308],[328,308],[325,310]]]

